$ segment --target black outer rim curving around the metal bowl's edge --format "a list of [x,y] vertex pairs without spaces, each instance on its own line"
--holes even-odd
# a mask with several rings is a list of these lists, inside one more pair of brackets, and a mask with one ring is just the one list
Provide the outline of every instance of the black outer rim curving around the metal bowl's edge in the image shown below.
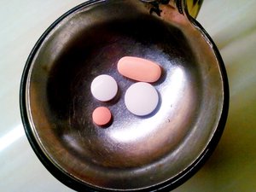
[[[26,137],[29,141],[29,143],[32,146],[32,149],[34,150],[35,154],[38,156],[38,159],[43,163],[45,168],[54,176],[56,177],[61,183],[64,183],[71,189],[75,189],[77,191],[107,191],[108,189],[98,189],[96,187],[90,186],[86,183],[82,183],[75,177],[72,177],[69,175],[67,172],[63,172],[61,169],[56,167],[52,161],[50,161],[47,156],[44,154],[42,148],[40,148],[37,139],[33,135],[32,132],[32,127],[30,126],[29,123],[29,118],[28,118],[28,113],[26,111],[26,81],[28,78],[28,73],[29,69],[32,65],[32,60],[34,56],[36,55],[38,49],[40,48],[40,45],[44,42],[44,39],[47,37],[49,32],[57,26],[61,20],[66,18],[68,15],[73,14],[75,11],[79,9],[83,9],[86,6],[89,6],[93,3],[99,3],[102,1],[99,0],[92,0],[88,1],[86,3],[81,3],[78,6],[74,7],[73,9],[70,9],[65,13],[64,15],[61,15],[61,17],[55,22],[49,26],[49,28],[43,33],[43,35],[38,39],[38,42],[35,44],[33,47],[30,55],[28,56],[28,59],[26,61],[26,65],[24,67],[22,77],[20,80],[20,115],[22,119],[22,123],[24,125],[24,129],[26,131]],[[104,1],[103,1],[104,2]],[[210,157],[214,149],[216,148],[218,141],[220,137],[222,136],[222,133],[224,131],[224,126],[226,123],[226,119],[228,117],[228,111],[229,111],[229,102],[230,102],[230,93],[229,93],[229,83],[228,83],[228,76],[225,70],[224,66],[224,61],[222,60],[222,57],[218,51],[218,48],[216,44],[212,41],[212,38],[209,36],[209,34],[204,30],[204,28],[201,26],[199,22],[196,20],[192,19],[190,20],[193,22],[195,26],[197,26],[201,32],[205,35],[205,38],[207,38],[208,42],[212,44],[212,49],[214,50],[214,53],[218,59],[219,63],[219,68],[220,68],[220,73],[222,75],[222,80],[223,80],[223,86],[224,86],[224,105],[223,105],[223,110],[221,113],[221,117],[218,122],[218,127],[216,131],[213,134],[212,140],[208,143],[206,149],[201,153],[201,155],[191,164],[189,167],[187,167],[183,172],[178,174],[176,177],[173,177],[171,180],[165,182],[165,183],[160,183],[155,186],[150,186],[149,188],[145,189],[137,189],[138,191],[158,191],[158,190],[172,190],[177,188],[179,185],[187,181],[190,177],[195,175],[195,172],[197,172],[201,166],[205,164],[207,159]],[[113,189],[111,189],[113,191]],[[116,190],[116,191],[127,191],[127,190]]]

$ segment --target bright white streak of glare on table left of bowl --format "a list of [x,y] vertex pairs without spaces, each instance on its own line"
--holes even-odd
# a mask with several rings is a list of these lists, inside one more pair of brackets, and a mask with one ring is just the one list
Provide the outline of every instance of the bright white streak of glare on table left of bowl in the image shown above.
[[24,134],[23,126],[18,125],[3,135],[3,137],[0,137],[0,151],[8,148],[12,143],[15,143],[20,137],[24,136]]

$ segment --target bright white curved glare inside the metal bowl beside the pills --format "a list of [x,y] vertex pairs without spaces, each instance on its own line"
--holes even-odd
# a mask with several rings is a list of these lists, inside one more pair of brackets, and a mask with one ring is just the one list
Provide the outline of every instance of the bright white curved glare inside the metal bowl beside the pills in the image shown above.
[[111,132],[110,137],[112,137],[113,140],[119,143],[139,141],[144,137],[152,135],[155,129],[152,125],[162,124],[164,117],[166,117],[166,122],[171,121],[166,115],[170,115],[170,108],[173,108],[172,103],[177,103],[177,100],[179,100],[186,79],[180,67],[174,68],[169,76],[170,77],[167,77],[170,79],[168,80],[168,84],[163,83],[163,85],[160,86],[161,103],[157,113],[149,118],[146,117],[142,119],[138,117],[138,119],[142,120],[137,121],[137,124]]

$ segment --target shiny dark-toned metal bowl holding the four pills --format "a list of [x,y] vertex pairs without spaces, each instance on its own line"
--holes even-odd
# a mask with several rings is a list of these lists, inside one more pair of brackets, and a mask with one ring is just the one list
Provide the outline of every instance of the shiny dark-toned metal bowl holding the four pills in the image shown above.
[[[229,89],[212,39],[172,4],[89,1],[70,10],[32,49],[20,86],[26,136],[44,166],[76,190],[173,189],[207,160],[224,129]],[[185,10],[185,9],[184,9]],[[134,82],[117,73],[125,55],[160,63],[157,111],[137,117],[125,108]],[[119,84],[111,102],[97,102],[90,83],[107,73]],[[91,113],[107,106],[100,128]]]

